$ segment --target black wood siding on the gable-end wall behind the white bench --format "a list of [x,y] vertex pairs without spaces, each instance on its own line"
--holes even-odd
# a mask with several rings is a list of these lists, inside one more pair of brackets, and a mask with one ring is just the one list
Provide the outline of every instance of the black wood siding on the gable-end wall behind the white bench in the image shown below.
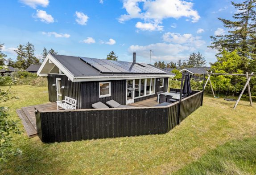
[[[81,92],[81,82],[72,82],[68,80],[66,75],[58,75],[58,74],[48,74],[48,91],[49,91],[49,101],[56,102],[57,101],[57,85],[56,85],[56,78],[61,79],[61,85],[65,88],[61,89],[62,92],[62,99],[65,99],[65,96],[74,98],[77,100],[77,109],[82,109],[82,101],[81,98],[83,97],[83,92]],[[52,86],[55,84],[55,86]]]

